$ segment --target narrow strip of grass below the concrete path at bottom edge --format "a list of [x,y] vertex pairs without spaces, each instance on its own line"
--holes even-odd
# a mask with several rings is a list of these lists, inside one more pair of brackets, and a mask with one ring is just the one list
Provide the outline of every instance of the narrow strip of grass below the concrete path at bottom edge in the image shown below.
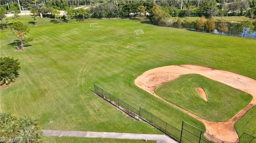
[[[102,139],[86,137],[45,137],[46,143],[145,143],[143,139]],[[147,143],[156,143],[156,141],[147,140]]]

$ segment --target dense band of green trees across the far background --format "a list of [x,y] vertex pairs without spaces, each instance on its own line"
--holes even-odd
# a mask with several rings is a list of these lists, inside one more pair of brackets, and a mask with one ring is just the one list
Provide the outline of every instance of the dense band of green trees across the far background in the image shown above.
[[[8,0],[1,0],[0,4],[6,2],[10,3]],[[20,0],[23,8],[36,8],[44,16],[55,9],[88,6],[88,18],[136,16],[139,6],[144,6],[146,12],[150,13],[155,4],[168,10],[172,17],[256,16],[256,0]],[[10,11],[19,10],[17,2],[12,2],[10,8],[5,7]],[[131,13],[136,14],[130,15]],[[76,17],[81,16],[75,15],[74,18]]]

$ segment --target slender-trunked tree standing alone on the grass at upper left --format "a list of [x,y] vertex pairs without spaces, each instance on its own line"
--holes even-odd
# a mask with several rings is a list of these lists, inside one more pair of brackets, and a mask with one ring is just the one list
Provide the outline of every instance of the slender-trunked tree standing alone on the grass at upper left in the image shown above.
[[11,25],[11,29],[14,31],[14,34],[17,35],[18,39],[20,40],[20,48],[24,50],[23,45],[23,37],[26,33],[28,33],[29,29],[28,26],[23,25],[21,22],[14,22]]

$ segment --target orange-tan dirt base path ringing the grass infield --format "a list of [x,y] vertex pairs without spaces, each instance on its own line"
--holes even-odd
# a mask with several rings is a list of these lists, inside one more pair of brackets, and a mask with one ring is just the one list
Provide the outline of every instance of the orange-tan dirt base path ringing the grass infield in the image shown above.
[[[206,121],[205,119],[202,119],[188,112],[187,110],[184,110],[183,108],[172,104],[168,100],[161,98],[154,92],[156,87],[161,86],[162,84],[178,78],[179,76],[182,76],[184,74],[201,74],[202,76],[205,76],[212,80],[222,82],[224,84],[232,86],[233,88],[237,88],[239,90],[247,92],[253,96],[253,99],[250,104],[248,104],[248,106],[239,111],[234,117],[226,122],[216,123]],[[150,94],[156,96],[157,98],[160,98],[165,102],[172,104],[173,106],[186,112],[190,116],[202,121],[206,126],[206,133],[209,133],[210,135],[213,135],[214,137],[227,142],[235,142],[238,139],[238,134],[236,133],[236,130],[234,128],[234,123],[236,123],[236,121],[242,118],[242,116],[244,116],[246,112],[248,112],[252,107],[256,105],[256,80],[233,72],[212,69],[210,67],[203,67],[197,65],[172,65],[166,67],[159,67],[146,71],[142,75],[138,76],[138,78],[135,79],[135,84],[140,88],[146,90]],[[211,141],[218,142],[217,140],[212,139],[207,134],[205,134],[205,136]]]

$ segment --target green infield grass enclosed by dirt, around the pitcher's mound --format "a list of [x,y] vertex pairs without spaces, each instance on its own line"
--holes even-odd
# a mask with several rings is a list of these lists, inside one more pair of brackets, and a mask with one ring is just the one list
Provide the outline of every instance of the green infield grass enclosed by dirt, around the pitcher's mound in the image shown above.
[[[201,98],[196,88],[201,87],[208,101]],[[162,98],[206,119],[224,122],[235,116],[252,100],[246,92],[211,80],[199,74],[185,74],[155,90]]]

